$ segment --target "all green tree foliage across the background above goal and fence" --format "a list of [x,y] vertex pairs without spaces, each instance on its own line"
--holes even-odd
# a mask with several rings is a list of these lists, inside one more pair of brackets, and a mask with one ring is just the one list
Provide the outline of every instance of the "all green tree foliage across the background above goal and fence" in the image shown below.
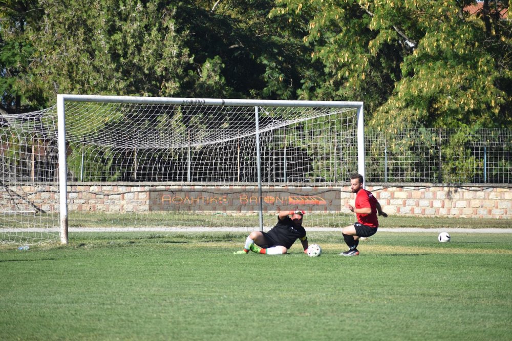
[[[470,0],[5,1],[1,104],[30,111],[57,93],[364,101],[369,130],[415,158],[397,178],[414,178],[430,162],[414,156],[430,152],[423,128],[512,127],[508,1],[480,4],[472,14]],[[480,161],[467,135],[457,143],[442,147],[439,172],[472,178]],[[321,178],[333,168],[311,166]]]

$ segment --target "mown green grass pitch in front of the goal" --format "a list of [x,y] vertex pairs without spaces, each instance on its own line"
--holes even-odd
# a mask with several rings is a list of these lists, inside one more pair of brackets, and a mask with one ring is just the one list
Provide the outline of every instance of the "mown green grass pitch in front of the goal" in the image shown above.
[[245,235],[0,250],[0,339],[510,340],[512,234],[381,232],[290,254]]

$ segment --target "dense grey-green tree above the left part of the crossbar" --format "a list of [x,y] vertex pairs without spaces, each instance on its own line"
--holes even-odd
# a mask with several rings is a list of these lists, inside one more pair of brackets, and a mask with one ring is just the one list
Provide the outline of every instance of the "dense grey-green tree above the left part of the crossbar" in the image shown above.
[[163,1],[47,0],[32,31],[32,72],[48,99],[57,93],[171,96],[188,51],[175,10]]

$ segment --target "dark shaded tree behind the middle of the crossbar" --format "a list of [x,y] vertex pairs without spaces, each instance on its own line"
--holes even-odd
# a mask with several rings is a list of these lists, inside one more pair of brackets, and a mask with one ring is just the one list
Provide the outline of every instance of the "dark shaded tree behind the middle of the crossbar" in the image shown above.
[[[178,23],[189,32],[185,44],[193,56],[189,72],[215,59],[225,81],[218,96],[297,98],[310,67],[310,51],[302,44],[305,22],[296,25],[285,16],[269,17],[272,6],[270,0],[180,3]],[[187,84],[187,95],[205,97],[195,81],[191,78]]]

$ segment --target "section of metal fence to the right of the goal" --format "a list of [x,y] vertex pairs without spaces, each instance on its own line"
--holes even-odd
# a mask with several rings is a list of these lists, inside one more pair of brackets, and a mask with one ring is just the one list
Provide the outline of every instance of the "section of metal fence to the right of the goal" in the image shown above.
[[366,132],[370,182],[512,183],[512,131]]

